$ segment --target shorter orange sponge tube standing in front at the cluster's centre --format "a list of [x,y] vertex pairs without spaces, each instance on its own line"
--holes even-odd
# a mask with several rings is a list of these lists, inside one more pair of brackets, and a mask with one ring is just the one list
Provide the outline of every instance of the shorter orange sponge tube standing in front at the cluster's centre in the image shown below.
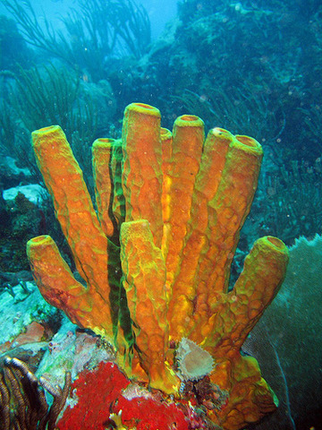
[[140,361],[154,388],[176,391],[178,378],[166,364],[165,260],[153,243],[147,220],[124,222],[121,228],[123,286],[134,323]]

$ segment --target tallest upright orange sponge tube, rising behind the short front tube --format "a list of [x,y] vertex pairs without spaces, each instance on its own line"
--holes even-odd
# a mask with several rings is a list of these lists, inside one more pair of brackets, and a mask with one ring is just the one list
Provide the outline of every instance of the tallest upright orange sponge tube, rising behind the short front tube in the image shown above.
[[156,107],[132,103],[125,108],[122,132],[125,220],[148,219],[157,246],[163,233],[160,121]]

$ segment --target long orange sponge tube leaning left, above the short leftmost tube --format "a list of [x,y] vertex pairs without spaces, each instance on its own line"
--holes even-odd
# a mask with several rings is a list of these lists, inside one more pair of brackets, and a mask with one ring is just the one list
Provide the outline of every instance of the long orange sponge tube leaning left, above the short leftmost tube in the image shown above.
[[98,292],[106,292],[107,238],[64,132],[54,125],[33,132],[32,140],[38,168],[53,197],[77,270]]

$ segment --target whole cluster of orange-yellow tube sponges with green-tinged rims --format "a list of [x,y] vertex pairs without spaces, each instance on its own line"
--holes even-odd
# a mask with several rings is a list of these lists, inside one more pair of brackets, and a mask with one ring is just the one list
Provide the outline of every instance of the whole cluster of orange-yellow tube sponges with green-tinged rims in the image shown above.
[[63,131],[51,126],[32,134],[86,286],[49,236],[28,242],[30,265],[46,300],[114,342],[127,374],[152,388],[178,396],[175,348],[182,337],[199,344],[214,359],[210,383],[228,393],[220,407],[210,402],[208,417],[225,429],[242,428],[276,407],[257,361],[240,349],[288,262],[279,239],[262,237],[228,290],[262,150],[254,139],[220,128],[205,140],[197,116],[177,118],[172,134],[160,117],[155,107],[131,104],[122,142],[94,145],[97,212]]

